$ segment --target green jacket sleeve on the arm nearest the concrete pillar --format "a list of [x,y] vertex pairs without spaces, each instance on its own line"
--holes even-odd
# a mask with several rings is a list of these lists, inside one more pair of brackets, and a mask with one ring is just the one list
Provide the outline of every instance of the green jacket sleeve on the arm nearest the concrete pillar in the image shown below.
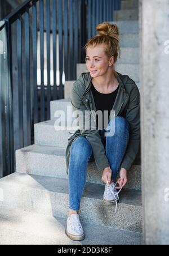
[[136,85],[130,93],[126,120],[130,124],[130,140],[121,168],[129,170],[134,163],[140,147],[140,92]]

